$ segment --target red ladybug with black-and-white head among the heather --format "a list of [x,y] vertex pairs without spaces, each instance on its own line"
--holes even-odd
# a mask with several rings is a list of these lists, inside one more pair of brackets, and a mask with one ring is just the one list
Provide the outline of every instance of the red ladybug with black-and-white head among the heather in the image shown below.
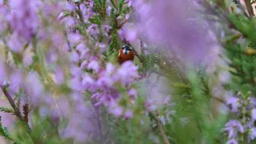
[[124,45],[120,50],[118,51],[118,57],[117,61],[122,64],[125,61],[133,61],[134,60],[134,52],[133,49],[128,46]]

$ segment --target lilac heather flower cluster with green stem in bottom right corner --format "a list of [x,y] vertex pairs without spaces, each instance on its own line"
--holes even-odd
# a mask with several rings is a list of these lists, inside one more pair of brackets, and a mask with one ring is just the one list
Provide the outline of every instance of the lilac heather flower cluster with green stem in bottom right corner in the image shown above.
[[235,96],[227,97],[227,104],[241,119],[229,120],[226,123],[224,131],[228,133],[228,144],[238,144],[238,141],[243,141],[241,135],[248,134],[248,142],[255,139],[256,127],[256,99],[249,97],[250,92],[243,94],[238,92]]

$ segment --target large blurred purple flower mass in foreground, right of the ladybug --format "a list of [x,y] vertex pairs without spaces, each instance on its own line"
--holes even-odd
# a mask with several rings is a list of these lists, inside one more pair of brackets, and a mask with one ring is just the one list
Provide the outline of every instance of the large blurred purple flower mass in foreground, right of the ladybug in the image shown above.
[[[140,5],[137,8],[137,32],[147,42],[173,51],[184,60],[200,64],[214,41],[203,22],[187,22],[191,17],[198,17],[188,1],[162,0],[161,3],[151,1]],[[135,5],[138,2],[129,3]],[[183,11],[181,7],[189,7],[190,10]]]

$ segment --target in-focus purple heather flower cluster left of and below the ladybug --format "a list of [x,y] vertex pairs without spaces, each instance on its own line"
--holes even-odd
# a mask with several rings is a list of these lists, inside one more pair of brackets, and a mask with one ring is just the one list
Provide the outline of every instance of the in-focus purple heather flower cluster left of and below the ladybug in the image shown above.
[[[70,4],[70,3],[69,3]],[[85,32],[87,36],[83,36],[78,31],[68,33],[69,41],[72,46],[75,46],[75,51],[71,57],[73,63],[81,63],[80,67],[72,65],[72,78],[70,80],[70,87],[74,91],[90,91],[94,93],[91,98],[96,99],[95,107],[104,105],[107,107],[109,113],[116,117],[124,115],[126,119],[131,118],[133,112],[120,104],[122,95],[128,96],[128,103],[133,104],[137,97],[136,90],[131,88],[131,83],[139,77],[137,69],[138,66],[132,64],[132,61],[126,61],[121,66],[116,66],[110,62],[103,62],[101,54],[107,51],[107,45],[104,43],[94,42],[98,39],[99,33],[102,30],[103,34],[108,37],[109,25],[101,25],[101,30],[97,24],[91,24],[88,18],[91,18],[93,1],[84,2],[80,4],[80,9],[83,14],[85,23],[90,24]],[[73,6],[75,11],[77,5]],[[111,7],[110,7],[111,9]],[[109,8],[107,8],[107,13]],[[60,14],[58,19],[73,19],[73,17],[63,17]],[[78,21],[78,20],[75,20]],[[67,26],[75,26],[76,22],[69,23]],[[89,72],[88,72],[89,71]],[[124,91],[120,89],[124,88]]]

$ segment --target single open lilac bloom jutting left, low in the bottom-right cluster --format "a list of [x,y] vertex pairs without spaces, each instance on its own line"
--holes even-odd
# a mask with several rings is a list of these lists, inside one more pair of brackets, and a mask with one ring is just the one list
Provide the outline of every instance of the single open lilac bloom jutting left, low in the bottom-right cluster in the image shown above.
[[228,139],[235,139],[238,136],[238,131],[243,133],[244,128],[243,125],[237,121],[237,120],[229,120],[228,123],[226,123],[225,128],[223,128],[223,131],[227,131],[229,133]]

